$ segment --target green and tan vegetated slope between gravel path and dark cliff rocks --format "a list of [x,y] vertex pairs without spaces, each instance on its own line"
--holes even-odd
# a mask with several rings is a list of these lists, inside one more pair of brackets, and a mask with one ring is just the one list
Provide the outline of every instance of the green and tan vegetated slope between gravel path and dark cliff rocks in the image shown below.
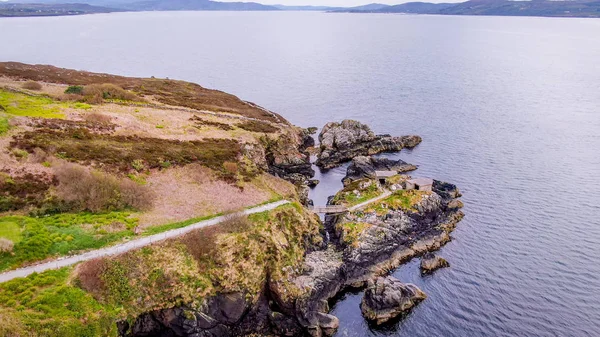
[[200,306],[218,292],[243,291],[256,300],[265,275],[285,278],[297,268],[319,229],[299,204],[285,205],[117,257],[5,282],[2,328],[17,335],[116,336],[118,319]]

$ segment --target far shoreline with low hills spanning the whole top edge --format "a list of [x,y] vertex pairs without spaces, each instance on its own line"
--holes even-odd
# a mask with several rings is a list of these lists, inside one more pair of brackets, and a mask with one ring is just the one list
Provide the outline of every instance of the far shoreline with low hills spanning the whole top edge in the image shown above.
[[[82,0],[85,1],[85,0]],[[267,11],[306,11],[351,14],[406,14],[406,15],[457,15],[457,16],[510,16],[510,17],[558,17],[558,18],[600,18],[600,2],[575,1],[507,1],[490,2],[467,1],[463,3],[433,4],[409,2],[388,6],[371,4],[366,6],[340,8],[311,6],[270,6],[254,2],[206,1],[190,7],[186,4],[155,0],[143,3],[124,4],[121,8],[109,8],[89,4],[28,4],[0,3],[0,18],[6,17],[56,17],[87,14],[108,14],[122,12],[267,12]]]

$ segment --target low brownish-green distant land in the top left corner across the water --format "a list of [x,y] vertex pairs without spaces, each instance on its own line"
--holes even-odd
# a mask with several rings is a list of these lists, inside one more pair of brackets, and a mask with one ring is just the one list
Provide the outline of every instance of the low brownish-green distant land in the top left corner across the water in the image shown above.
[[0,2],[0,17],[64,16],[118,12],[120,9],[88,4],[26,4]]

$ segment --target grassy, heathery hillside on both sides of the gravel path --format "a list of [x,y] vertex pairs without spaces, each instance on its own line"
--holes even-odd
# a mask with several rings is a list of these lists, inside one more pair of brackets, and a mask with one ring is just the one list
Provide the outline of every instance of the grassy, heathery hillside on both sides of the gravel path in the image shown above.
[[[265,144],[293,149],[298,130],[192,83],[0,63],[0,272],[297,200]],[[293,202],[1,283],[0,336],[116,336],[118,320],[218,292],[255,300],[319,230]]]

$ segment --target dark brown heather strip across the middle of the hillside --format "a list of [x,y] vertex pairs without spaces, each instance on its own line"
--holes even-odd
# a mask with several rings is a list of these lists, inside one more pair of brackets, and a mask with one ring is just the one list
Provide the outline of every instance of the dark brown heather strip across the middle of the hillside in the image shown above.
[[97,163],[107,169],[124,172],[129,172],[132,163],[139,160],[147,169],[199,163],[225,173],[223,163],[238,158],[241,153],[240,144],[229,139],[178,141],[113,136],[97,134],[83,127],[26,131],[15,136],[11,146],[30,153],[40,148],[70,161]]

